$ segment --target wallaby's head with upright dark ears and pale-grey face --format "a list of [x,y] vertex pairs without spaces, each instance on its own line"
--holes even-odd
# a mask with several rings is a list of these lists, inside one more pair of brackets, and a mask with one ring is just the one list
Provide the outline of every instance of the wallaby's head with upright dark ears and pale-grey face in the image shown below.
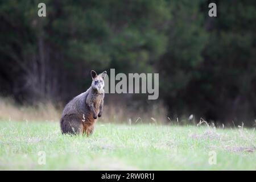
[[104,93],[104,78],[106,77],[106,71],[97,75],[97,73],[92,70],[90,75],[92,76],[92,88],[97,90],[98,93]]

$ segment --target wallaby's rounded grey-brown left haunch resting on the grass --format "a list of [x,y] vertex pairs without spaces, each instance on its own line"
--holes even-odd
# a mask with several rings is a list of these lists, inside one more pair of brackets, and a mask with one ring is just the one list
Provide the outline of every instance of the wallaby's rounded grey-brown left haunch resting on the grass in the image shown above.
[[61,119],[60,125],[63,134],[82,134],[82,121],[79,117],[76,117],[75,115],[63,117]]

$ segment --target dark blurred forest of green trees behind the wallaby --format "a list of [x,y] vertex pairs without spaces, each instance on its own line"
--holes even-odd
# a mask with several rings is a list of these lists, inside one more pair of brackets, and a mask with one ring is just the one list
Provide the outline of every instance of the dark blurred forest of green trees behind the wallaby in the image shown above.
[[[38,3],[46,3],[46,18]],[[208,16],[210,2],[217,17]],[[159,73],[159,99],[106,95],[127,107],[161,102],[172,115],[256,118],[256,1],[0,1],[0,94],[64,104],[90,70]],[[171,115],[170,114],[170,115]]]

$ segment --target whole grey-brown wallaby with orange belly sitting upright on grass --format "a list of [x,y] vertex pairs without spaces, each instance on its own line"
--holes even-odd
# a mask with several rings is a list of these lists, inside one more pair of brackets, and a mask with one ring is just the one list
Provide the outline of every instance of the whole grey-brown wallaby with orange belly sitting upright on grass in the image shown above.
[[64,107],[60,127],[63,134],[86,134],[94,129],[97,117],[101,117],[104,102],[104,78],[106,71],[97,75],[91,71],[92,86],[68,102]]

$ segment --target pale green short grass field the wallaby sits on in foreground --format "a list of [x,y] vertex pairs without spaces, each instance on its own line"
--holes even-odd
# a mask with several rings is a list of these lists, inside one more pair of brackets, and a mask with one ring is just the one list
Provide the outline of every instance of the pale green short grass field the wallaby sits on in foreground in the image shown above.
[[256,170],[255,143],[252,129],[97,123],[88,138],[62,135],[57,122],[0,122],[0,169]]

